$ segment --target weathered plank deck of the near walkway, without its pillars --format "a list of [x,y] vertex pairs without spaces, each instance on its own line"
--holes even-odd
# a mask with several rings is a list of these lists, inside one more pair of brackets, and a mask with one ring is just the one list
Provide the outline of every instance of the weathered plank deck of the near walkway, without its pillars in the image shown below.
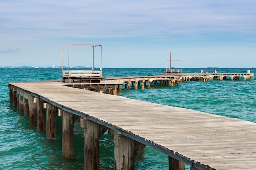
[[191,169],[256,170],[256,123],[66,87],[57,81],[9,87],[119,131]]

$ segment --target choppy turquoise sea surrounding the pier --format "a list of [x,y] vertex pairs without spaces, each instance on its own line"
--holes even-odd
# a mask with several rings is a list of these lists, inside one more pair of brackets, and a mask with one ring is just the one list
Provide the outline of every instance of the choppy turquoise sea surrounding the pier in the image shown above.
[[[183,68],[200,73],[202,68]],[[256,73],[255,68],[207,68],[204,72]],[[8,82],[61,79],[61,68],[0,68],[0,169],[83,170],[84,132],[74,125],[74,159],[63,159],[61,117],[57,137],[46,139],[44,132],[29,125],[29,118],[9,102]],[[144,76],[164,73],[165,68],[103,68],[103,76]],[[152,85],[150,88],[118,91],[119,96],[256,122],[256,78],[250,81],[189,81],[179,85]],[[146,114],[146,113],[145,113]],[[157,112],[156,112],[157,114]],[[171,149],[171,148],[170,148]],[[100,139],[100,169],[114,169],[114,137]],[[136,170],[168,170],[168,156],[146,146],[135,160]],[[186,165],[186,170],[189,166]]]

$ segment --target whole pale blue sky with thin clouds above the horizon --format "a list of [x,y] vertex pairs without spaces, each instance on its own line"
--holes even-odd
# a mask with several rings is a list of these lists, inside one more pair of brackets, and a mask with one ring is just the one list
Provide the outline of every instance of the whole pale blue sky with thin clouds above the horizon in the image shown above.
[[[255,0],[0,0],[0,66],[255,68]],[[63,48],[62,48],[63,46]],[[63,50],[62,50],[63,49]],[[94,66],[101,48],[94,48]],[[168,63],[168,64],[167,64]]]

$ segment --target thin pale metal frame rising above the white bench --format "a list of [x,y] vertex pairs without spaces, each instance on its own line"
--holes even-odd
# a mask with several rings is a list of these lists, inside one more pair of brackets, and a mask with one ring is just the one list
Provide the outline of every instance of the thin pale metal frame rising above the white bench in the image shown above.
[[68,47],[68,71],[70,71],[70,47],[92,47],[92,70],[94,70],[94,47],[101,47],[101,68],[102,70],[102,45],[92,44],[68,44],[68,46],[62,46],[62,71],[63,71],[63,47]]

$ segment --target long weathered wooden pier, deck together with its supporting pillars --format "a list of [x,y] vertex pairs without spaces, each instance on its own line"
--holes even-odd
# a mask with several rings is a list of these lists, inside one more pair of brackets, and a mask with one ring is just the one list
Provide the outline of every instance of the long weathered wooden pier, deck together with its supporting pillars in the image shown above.
[[[150,85],[171,78],[171,82],[175,78],[190,81],[187,77],[161,74],[144,79],[130,77],[127,82],[145,80]],[[126,81],[108,81],[121,79]],[[115,94],[113,91],[122,84],[108,82],[102,86],[110,85],[112,91],[108,92]],[[10,102],[29,116],[29,123],[38,131],[45,131],[47,139],[56,137],[56,116],[62,116],[64,158],[74,157],[73,126],[80,120],[85,131],[85,170],[99,169],[99,137],[106,130],[115,135],[115,170],[134,169],[134,160],[145,146],[168,155],[170,170],[184,170],[184,163],[191,170],[256,169],[256,123],[104,94],[106,87],[99,89],[101,93],[84,90],[90,89],[91,83],[38,81],[8,85]],[[75,86],[78,88],[72,88]],[[92,89],[99,86],[95,83]]]

